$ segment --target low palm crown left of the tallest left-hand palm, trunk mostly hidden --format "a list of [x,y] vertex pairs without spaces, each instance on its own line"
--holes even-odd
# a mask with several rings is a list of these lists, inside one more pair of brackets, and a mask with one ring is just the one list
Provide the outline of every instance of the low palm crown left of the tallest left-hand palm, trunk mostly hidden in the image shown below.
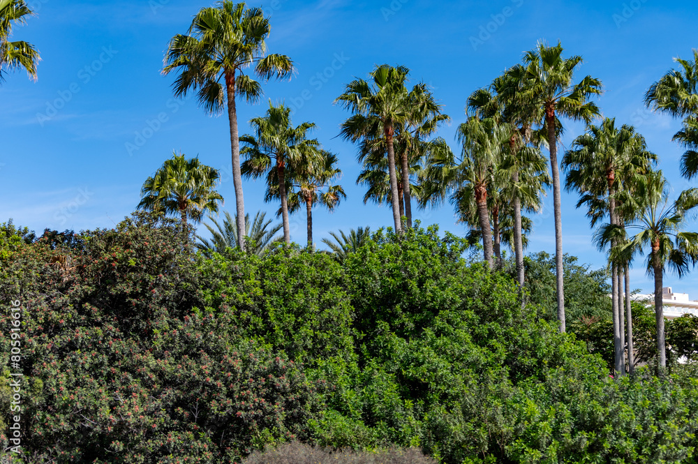
[[186,160],[184,154],[174,153],[144,182],[138,209],[179,214],[184,225],[187,218],[198,223],[206,211],[217,213],[218,203],[223,202],[214,190],[220,177],[218,170],[201,164],[199,158]]

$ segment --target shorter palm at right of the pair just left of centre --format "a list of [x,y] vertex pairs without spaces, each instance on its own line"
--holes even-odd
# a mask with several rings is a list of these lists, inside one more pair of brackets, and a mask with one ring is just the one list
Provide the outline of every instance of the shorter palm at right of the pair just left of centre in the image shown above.
[[308,246],[313,246],[313,204],[320,204],[329,211],[334,211],[341,199],[346,198],[342,186],[332,185],[332,181],[342,173],[341,169],[336,167],[337,156],[329,151],[320,150],[320,157],[320,162],[315,167],[295,174],[292,182],[297,190],[288,200],[290,212],[297,211],[302,204],[306,207]]

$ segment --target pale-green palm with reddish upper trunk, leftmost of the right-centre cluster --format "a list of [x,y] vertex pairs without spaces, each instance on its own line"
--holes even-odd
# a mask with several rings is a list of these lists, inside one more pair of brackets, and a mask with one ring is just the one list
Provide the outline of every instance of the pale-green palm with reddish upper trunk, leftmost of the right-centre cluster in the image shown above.
[[[482,231],[484,260],[493,267],[493,244],[487,208],[487,190],[494,181],[494,173],[503,159],[503,147],[510,137],[509,127],[498,124],[494,118],[480,119],[477,115],[458,128],[457,138],[463,146],[456,159],[447,146],[433,149],[424,170],[424,198],[426,204],[439,204],[447,196],[457,207],[463,195],[471,191],[475,197],[477,217]],[[438,143],[444,144],[438,140]]]

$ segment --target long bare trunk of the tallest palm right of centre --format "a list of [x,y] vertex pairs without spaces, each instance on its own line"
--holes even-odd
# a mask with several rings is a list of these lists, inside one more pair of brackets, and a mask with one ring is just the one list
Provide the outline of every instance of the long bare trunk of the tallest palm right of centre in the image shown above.
[[558,169],[557,137],[555,135],[555,107],[545,108],[545,124],[548,126],[550,170],[553,177],[553,209],[555,214],[555,273],[557,283],[558,320],[560,332],[565,331],[565,269],[563,265],[563,222],[560,200],[560,171]]

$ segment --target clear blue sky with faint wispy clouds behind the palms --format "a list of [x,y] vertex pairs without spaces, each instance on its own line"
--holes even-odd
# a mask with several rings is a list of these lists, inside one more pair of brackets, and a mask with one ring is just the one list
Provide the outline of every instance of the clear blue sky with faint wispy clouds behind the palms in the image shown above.
[[[113,227],[133,211],[143,181],[172,151],[199,156],[221,170],[219,188],[225,208],[235,209],[230,177],[230,135],[225,116],[211,117],[193,99],[175,100],[174,77],[160,70],[168,40],[185,33],[191,17],[210,1],[140,0],[59,2],[29,0],[37,15],[15,29],[14,40],[36,45],[43,61],[38,81],[24,73],[9,75],[0,87],[0,221],[13,218],[37,232],[45,227],[84,230]],[[366,77],[376,64],[410,68],[413,83],[424,81],[452,117],[440,130],[458,149],[455,129],[465,120],[468,95],[485,87],[505,68],[519,63],[538,40],[561,41],[565,56],[584,63],[577,79],[602,80],[597,99],[604,116],[633,124],[660,157],[677,192],[695,182],[681,178],[683,151],[671,136],[680,121],[644,107],[646,89],[669,68],[674,57],[698,47],[698,7],[688,1],[441,1],[272,0],[249,3],[271,19],[269,51],[287,54],[297,73],[290,81],[265,84],[257,105],[239,103],[239,131],[265,112],[267,100],[294,108],[293,122],[313,121],[313,133],[339,154],[341,184],[348,198],[334,214],[313,213],[318,243],[329,231],[359,225],[390,225],[388,207],[362,202],[356,186],[360,170],[356,149],[337,137],[349,114],[332,102],[355,77]],[[584,131],[565,122],[563,149]],[[135,147],[135,149],[134,149]],[[265,204],[262,181],[244,181],[246,211],[276,211]],[[563,246],[566,253],[593,268],[605,257],[591,244],[593,231],[577,195],[563,193]],[[552,195],[533,216],[529,252],[554,253]],[[423,224],[465,234],[453,210],[417,211]],[[292,240],[305,239],[305,215],[291,217]],[[698,273],[665,278],[665,285],[698,299]],[[639,263],[632,285],[651,292],[652,281]]]

